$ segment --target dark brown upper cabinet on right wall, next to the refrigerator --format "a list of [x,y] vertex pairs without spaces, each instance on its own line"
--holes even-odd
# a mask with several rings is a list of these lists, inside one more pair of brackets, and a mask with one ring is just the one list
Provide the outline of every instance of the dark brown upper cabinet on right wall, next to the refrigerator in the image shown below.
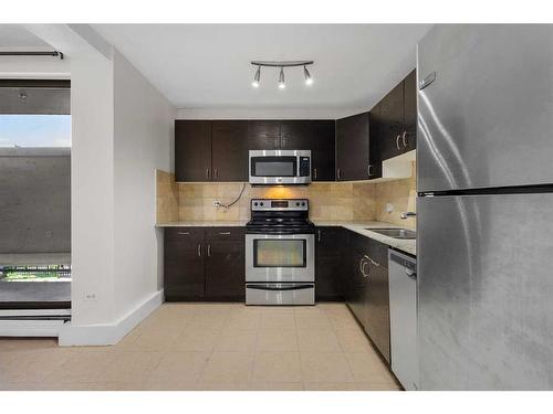
[[380,158],[386,160],[416,148],[417,91],[416,71],[397,84],[371,115],[378,125]]

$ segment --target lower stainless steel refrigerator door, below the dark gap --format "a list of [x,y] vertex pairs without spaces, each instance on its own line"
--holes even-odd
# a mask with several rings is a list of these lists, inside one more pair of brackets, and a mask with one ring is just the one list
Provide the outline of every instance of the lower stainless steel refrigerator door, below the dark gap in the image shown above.
[[419,198],[422,390],[553,390],[553,193]]

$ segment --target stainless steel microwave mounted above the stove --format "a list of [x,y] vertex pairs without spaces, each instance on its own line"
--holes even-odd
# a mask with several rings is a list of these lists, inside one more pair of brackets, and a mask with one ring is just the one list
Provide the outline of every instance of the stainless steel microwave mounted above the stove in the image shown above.
[[250,184],[309,184],[311,150],[250,150]]

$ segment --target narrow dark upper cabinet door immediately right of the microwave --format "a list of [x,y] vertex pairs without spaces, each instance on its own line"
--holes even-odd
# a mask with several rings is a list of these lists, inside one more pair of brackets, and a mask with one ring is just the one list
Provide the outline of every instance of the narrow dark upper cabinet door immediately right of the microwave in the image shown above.
[[311,137],[311,179],[313,181],[334,181],[335,169],[335,130],[334,120],[314,120]]

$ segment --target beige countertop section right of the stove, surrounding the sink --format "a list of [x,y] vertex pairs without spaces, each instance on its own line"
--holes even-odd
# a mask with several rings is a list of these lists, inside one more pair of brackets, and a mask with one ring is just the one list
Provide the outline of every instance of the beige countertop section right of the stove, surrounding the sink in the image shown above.
[[416,240],[403,240],[403,238],[394,238],[389,236],[385,236],[383,234],[378,234],[372,232],[369,229],[378,229],[378,227],[397,227],[401,226],[396,224],[390,224],[386,222],[377,222],[377,221],[334,221],[334,220],[312,220],[312,222],[317,226],[341,226],[347,229],[352,232],[358,233],[366,237],[371,237],[376,240],[377,242],[387,244],[394,248],[400,250],[403,252],[409,253],[414,256],[417,255],[417,241]]

